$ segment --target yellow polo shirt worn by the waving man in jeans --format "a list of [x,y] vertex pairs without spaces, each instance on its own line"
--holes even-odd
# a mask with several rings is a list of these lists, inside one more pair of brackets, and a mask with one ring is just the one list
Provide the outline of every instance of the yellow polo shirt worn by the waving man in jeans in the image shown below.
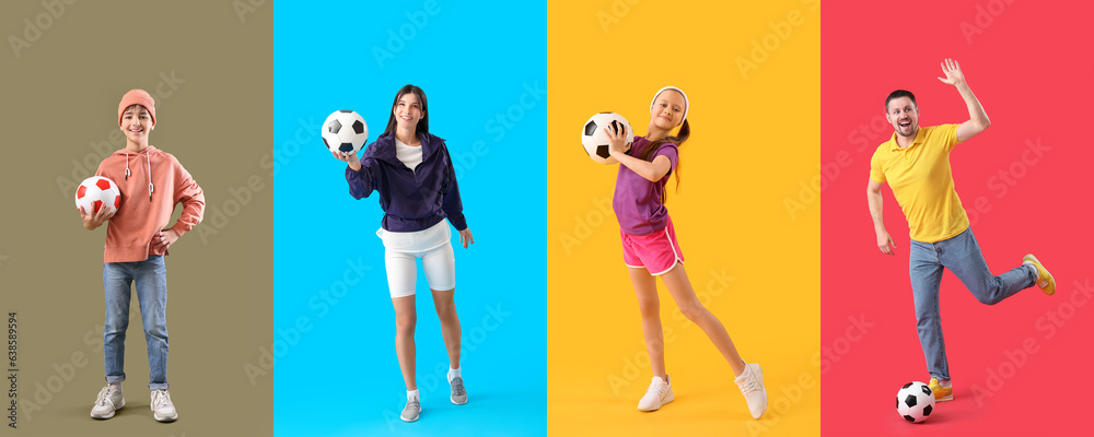
[[893,132],[870,158],[870,178],[888,181],[916,241],[941,241],[968,228],[950,170],[950,152],[957,144],[957,125],[920,127],[907,149],[897,145]]

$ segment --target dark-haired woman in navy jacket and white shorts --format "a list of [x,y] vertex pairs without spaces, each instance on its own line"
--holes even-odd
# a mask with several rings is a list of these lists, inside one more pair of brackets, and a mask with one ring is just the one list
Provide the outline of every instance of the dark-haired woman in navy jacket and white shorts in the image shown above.
[[407,404],[401,418],[418,420],[421,412],[415,382],[414,330],[416,259],[421,258],[426,281],[433,293],[433,306],[441,320],[441,334],[449,352],[449,383],[452,403],[467,402],[459,374],[459,318],[456,317],[455,260],[449,222],[459,232],[464,248],[474,244],[464,220],[456,175],[444,140],[429,133],[426,93],[406,85],[395,94],[387,129],[357,154],[331,152],[346,162],[346,180],[354,199],[380,193],[384,210],[376,235],[384,240],[387,285],[395,307],[395,352],[407,386]]

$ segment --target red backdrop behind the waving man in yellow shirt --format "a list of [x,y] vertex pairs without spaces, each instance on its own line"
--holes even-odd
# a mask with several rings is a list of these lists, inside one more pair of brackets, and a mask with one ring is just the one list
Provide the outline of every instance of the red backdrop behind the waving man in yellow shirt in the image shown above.
[[[822,191],[822,346],[829,350],[822,355],[823,435],[1090,430],[1094,296],[1079,299],[1075,282],[1094,285],[1091,12],[1089,2],[1079,1],[823,4],[821,160],[829,175],[837,162],[850,162],[826,177]],[[963,22],[982,32],[969,40]],[[957,193],[988,267],[1000,274],[1033,252],[1056,276],[1058,291],[1048,297],[1032,288],[989,307],[947,271],[940,298],[955,400],[911,425],[896,414],[895,394],[903,383],[930,376],[916,334],[908,225],[885,186],[885,224],[897,255],[882,255],[865,188],[870,156],[893,134],[883,118],[891,91],[916,94],[920,126],[968,119],[957,91],[935,79],[947,57],[961,62],[992,122],[951,155]],[[1023,164],[1026,141],[1037,139],[1050,150]],[[840,153],[847,155],[837,160]],[[1005,193],[1001,170],[1022,175]],[[981,213],[974,212],[979,198]],[[1060,310],[1071,318],[1057,316],[1062,326],[1048,338],[1048,318]],[[861,338],[858,330],[848,335],[849,317],[873,326]],[[1036,352],[1015,366],[1006,352],[1025,341]],[[1000,378],[1001,387],[992,380],[1000,371],[1009,377]],[[981,405],[973,387],[988,391],[989,382],[998,390]]]

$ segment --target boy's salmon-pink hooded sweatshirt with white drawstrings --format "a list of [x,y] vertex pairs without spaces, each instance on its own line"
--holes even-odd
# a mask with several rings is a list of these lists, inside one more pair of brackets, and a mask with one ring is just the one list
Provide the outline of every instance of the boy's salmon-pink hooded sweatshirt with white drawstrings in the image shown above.
[[121,190],[121,208],[106,227],[103,262],[135,262],[149,255],[167,255],[152,246],[152,236],[167,226],[176,203],[183,215],[171,228],[179,236],[201,223],[205,194],[170,153],[151,145],[140,152],[114,152],[95,176],[109,178]]

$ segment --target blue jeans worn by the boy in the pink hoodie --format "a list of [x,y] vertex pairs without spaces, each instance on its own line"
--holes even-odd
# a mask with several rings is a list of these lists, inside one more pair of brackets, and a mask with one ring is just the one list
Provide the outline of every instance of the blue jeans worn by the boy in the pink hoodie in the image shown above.
[[131,285],[137,284],[137,303],[148,343],[151,390],[167,389],[167,268],[163,257],[150,255],[144,261],[103,264],[106,290],[106,326],[103,329],[103,355],[106,381],[126,380],[126,329],[129,328]]

